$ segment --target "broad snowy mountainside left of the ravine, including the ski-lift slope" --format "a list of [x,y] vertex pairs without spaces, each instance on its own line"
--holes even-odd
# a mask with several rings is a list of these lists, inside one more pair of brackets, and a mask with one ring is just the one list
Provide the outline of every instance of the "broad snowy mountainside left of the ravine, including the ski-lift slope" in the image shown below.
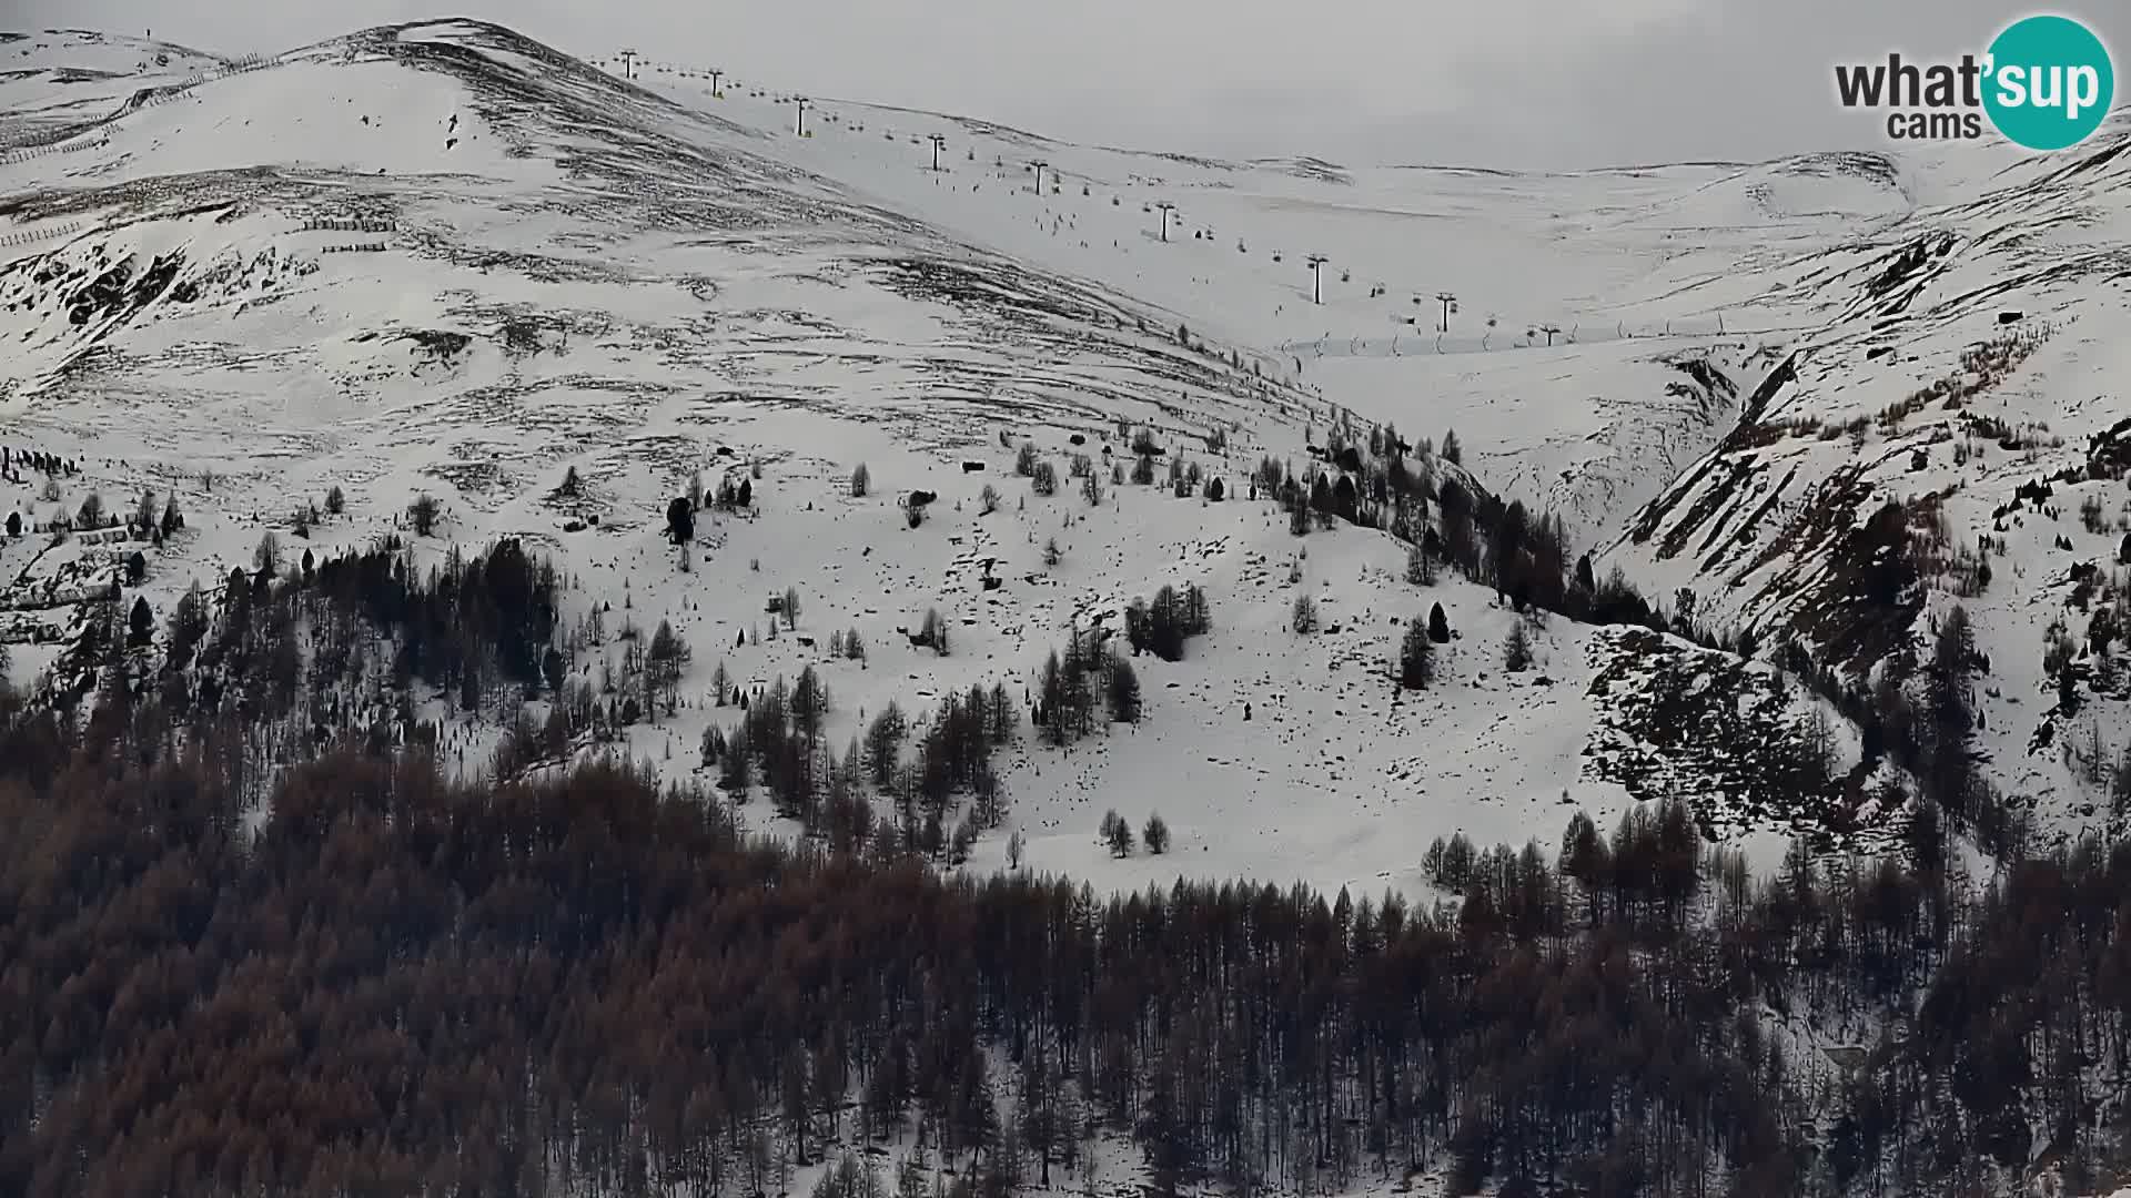
[[[9,113],[40,107],[75,55],[132,72],[66,83],[79,100],[38,117],[38,149],[0,156],[0,443],[83,467],[49,486],[17,471],[0,505],[47,524],[92,490],[115,509],[175,495],[188,533],[136,588],[158,612],[247,565],[264,531],[330,554],[405,533],[428,492],[443,522],[418,554],[516,535],[573,580],[567,622],[603,610],[582,678],[618,663],[622,620],[671,620],[695,654],[684,706],[631,738],[688,772],[701,729],[733,718],[710,703],[720,663],[748,686],[814,665],[842,744],[891,699],[1019,697],[1074,622],[1198,584],[1213,631],[1181,663],[1144,659],[1142,725],[1072,750],[1023,735],[1002,763],[1029,861],[1097,883],[1417,887],[1436,836],[1551,842],[1573,806],[1611,821],[1666,793],[1730,836],[1892,814],[1862,780],[1805,810],[1767,802],[1801,757],[1833,778],[1858,759],[1771,667],[1551,618],[1530,629],[1536,665],[1507,674],[1517,616],[1492,588],[1404,582],[1404,546],[1379,531],[1298,539],[1249,477],[1262,456],[1308,465],[1306,441],[1353,411],[1415,441],[1455,428],[1470,477],[1560,512],[1583,546],[1639,509],[1669,527],[1701,463],[1764,416],[1771,371],[1828,337],[1858,290],[1833,271],[1967,220],[1916,211],[1950,166],[1234,164],[835,100],[810,100],[797,136],[774,92],[712,96],[673,66],[627,81],[471,21],[230,64],[9,45],[36,47],[0,79]],[[1112,484],[1140,431],[1161,473]],[[1057,495],[1016,475],[1023,441]],[[1066,477],[1074,454],[1100,503]],[[1176,497],[1170,460],[1225,499]],[[663,522],[697,471],[748,480],[754,503],[705,509],[684,569]],[[296,539],[292,512],[335,486],[347,514]],[[921,527],[897,503],[912,490],[938,495]],[[47,541],[0,554],[17,674],[58,657],[62,599],[130,552]],[[1609,556],[1722,612],[1720,571],[1662,541]],[[803,618],[767,640],[765,599],[786,588]],[[1289,629],[1298,593],[1317,635]],[[1445,678],[1400,693],[1389,661],[1432,603],[1458,633]],[[901,635],[933,608],[948,657]],[[829,657],[846,629],[865,663]],[[454,735],[479,761],[492,727]],[[1110,859],[1106,808],[1159,810],[1176,859]],[[1004,853],[1002,829],[976,859]]]

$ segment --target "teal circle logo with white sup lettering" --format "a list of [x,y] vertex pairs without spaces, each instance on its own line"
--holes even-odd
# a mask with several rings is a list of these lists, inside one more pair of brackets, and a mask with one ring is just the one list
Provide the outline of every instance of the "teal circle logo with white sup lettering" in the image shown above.
[[2071,17],[2022,17],[1990,41],[1984,111],[2027,149],[2086,141],[2110,115],[2116,72],[2093,30]]

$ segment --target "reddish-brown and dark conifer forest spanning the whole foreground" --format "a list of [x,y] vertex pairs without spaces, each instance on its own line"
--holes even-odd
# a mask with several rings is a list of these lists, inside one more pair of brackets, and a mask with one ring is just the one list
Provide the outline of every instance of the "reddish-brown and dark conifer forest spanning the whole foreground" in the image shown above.
[[[865,804],[780,846],[618,765],[450,780],[352,699],[546,686],[567,740],[599,712],[539,652],[554,588],[514,544],[262,567],[160,659],[92,635],[94,701],[0,695],[0,1196],[752,1196],[825,1160],[1002,1196],[1119,1138],[1157,1194],[2114,1177],[2131,846],[1975,878],[1926,804],[1894,857],[1752,876],[1662,804],[1451,844],[1455,906],[1112,897],[944,876]],[[916,752],[978,772],[948,740]],[[929,1166],[874,1177],[889,1138]]]

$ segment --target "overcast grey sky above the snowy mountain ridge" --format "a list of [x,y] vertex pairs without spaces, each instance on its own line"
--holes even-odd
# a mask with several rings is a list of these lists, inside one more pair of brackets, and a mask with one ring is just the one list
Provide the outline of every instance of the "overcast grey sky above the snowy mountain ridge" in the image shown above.
[[[1215,156],[1577,168],[1886,145],[1835,62],[1980,51],[1988,0],[0,0],[90,26],[277,51],[441,15],[578,55],[635,45],[771,87]],[[2131,70],[2118,0],[2054,6]],[[2125,87],[2118,87],[2122,102]]]

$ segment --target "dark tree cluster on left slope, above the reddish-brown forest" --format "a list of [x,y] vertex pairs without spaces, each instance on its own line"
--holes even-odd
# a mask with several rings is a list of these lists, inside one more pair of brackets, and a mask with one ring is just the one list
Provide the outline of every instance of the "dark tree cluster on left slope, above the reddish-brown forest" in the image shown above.
[[[141,597],[92,605],[49,701],[90,744],[128,740],[139,757],[192,746],[262,802],[277,767],[349,729],[377,750],[437,744],[445,733],[416,710],[422,686],[465,712],[520,712],[567,676],[552,644],[560,584],[518,541],[424,571],[392,539],[324,563],[309,550],[283,563],[264,539],[254,565],[215,590],[192,586],[160,635]],[[569,714],[556,703],[554,723]]]

